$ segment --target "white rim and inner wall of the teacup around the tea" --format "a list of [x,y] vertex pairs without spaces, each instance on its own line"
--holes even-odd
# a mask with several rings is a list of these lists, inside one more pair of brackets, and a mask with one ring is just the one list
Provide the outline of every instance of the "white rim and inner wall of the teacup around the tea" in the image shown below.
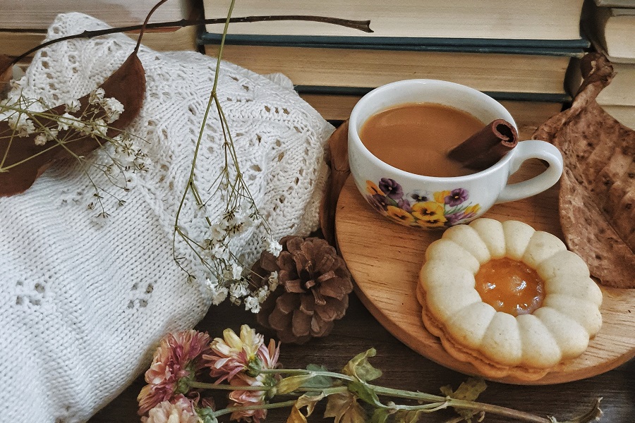
[[[358,122],[360,121],[361,109],[363,109],[366,103],[373,101],[375,97],[382,95],[385,91],[398,90],[398,89],[402,89],[404,87],[409,87],[413,85],[416,85],[416,86],[441,85],[441,86],[445,86],[449,88],[450,90],[458,90],[461,92],[466,92],[470,94],[471,96],[476,97],[477,99],[483,100],[483,102],[491,104],[492,107],[494,107],[495,109],[499,109],[501,114],[507,115],[505,117],[505,120],[508,121],[509,123],[512,123],[512,125],[514,125],[514,128],[518,130],[518,127],[516,126],[516,122],[514,121],[514,118],[512,118],[512,115],[509,114],[509,111],[507,111],[507,109],[505,109],[502,104],[497,102],[495,99],[492,99],[492,97],[488,96],[488,94],[475,90],[474,88],[468,87],[466,85],[457,84],[456,82],[449,82],[444,80],[410,79],[410,80],[399,80],[396,82],[390,82],[389,84],[382,85],[380,87],[375,88],[374,90],[365,94],[361,99],[359,99],[357,104],[355,104],[355,106],[353,107],[353,111],[351,111],[351,116],[349,118],[349,145],[352,142],[354,147],[356,147],[358,151],[365,156],[366,159],[371,161],[374,166],[376,166],[377,168],[380,168],[385,173],[386,172],[393,173],[397,175],[398,178],[416,178],[418,180],[425,181],[425,182],[443,181],[443,182],[449,182],[449,183],[450,182],[462,183],[466,180],[478,179],[478,178],[482,178],[483,176],[487,176],[490,173],[495,173],[500,168],[506,166],[507,162],[512,159],[513,154],[505,154],[504,157],[502,157],[502,159],[496,162],[496,164],[490,166],[489,168],[486,168],[483,171],[470,173],[469,175],[465,175],[465,176],[447,176],[447,177],[425,176],[425,175],[420,175],[418,173],[406,172],[404,170],[401,170],[400,168],[390,166],[389,164],[385,163],[385,161],[381,161],[380,159],[378,159],[375,156],[375,154],[371,153],[366,148],[366,146],[363,145],[363,143],[361,142],[359,138],[358,129],[361,128],[361,124],[368,119],[366,118],[364,119],[364,121]],[[425,103],[425,101],[421,103]],[[397,104],[399,103],[395,103],[392,106],[397,106]],[[391,106],[387,106],[382,109],[379,109],[377,112],[389,109],[389,107]],[[469,110],[466,110],[466,111],[470,113]],[[351,139],[351,134],[353,135],[352,139]]]

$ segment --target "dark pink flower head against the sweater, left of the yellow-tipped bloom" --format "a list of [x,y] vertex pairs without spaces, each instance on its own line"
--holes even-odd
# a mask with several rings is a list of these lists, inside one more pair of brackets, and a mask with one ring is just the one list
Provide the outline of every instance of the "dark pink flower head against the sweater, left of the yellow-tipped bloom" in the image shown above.
[[145,372],[147,385],[137,397],[139,415],[188,391],[188,382],[204,367],[201,357],[210,353],[209,342],[207,333],[194,330],[169,333],[161,340],[152,365]]

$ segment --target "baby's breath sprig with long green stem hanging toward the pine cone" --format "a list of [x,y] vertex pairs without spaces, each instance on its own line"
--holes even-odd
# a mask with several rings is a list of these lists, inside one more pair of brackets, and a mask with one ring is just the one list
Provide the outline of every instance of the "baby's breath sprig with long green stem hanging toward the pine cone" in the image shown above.
[[[186,188],[183,190],[179,209],[176,213],[174,222],[174,260],[186,271],[188,277],[193,279],[195,276],[186,269],[183,257],[176,257],[176,240],[181,240],[193,250],[195,256],[205,266],[207,278],[205,287],[210,295],[212,304],[219,304],[226,298],[235,305],[244,304],[246,309],[257,313],[260,311],[260,304],[264,302],[272,290],[271,286],[262,289],[260,287],[251,286],[249,272],[246,264],[243,263],[240,255],[233,250],[231,241],[239,235],[246,233],[255,226],[265,228],[265,239],[262,243],[267,245],[267,250],[274,255],[278,255],[282,251],[282,245],[274,240],[271,235],[267,222],[263,219],[262,214],[258,211],[255,201],[249,191],[246,181],[243,179],[241,168],[238,164],[238,154],[234,147],[234,140],[231,137],[229,125],[225,118],[224,112],[217,96],[217,83],[220,71],[220,59],[224,47],[224,37],[227,33],[229,18],[234,8],[232,1],[229,13],[223,31],[223,39],[219,51],[216,71],[214,75],[214,85],[207,102],[207,109],[202,119],[200,133],[195,146],[195,152],[192,159],[190,176],[188,178]],[[212,109],[217,113],[219,122],[221,123],[223,143],[222,154],[224,154],[224,166],[218,177],[214,180],[212,187],[200,190],[195,181],[195,164],[198,159],[198,151],[202,142],[205,123]],[[203,198],[200,192],[211,191],[212,195],[208,199]],[[219,221],[212,221],[207,216],[208,202],[212,198],[220,197],[222,199],[223,210],[222,218]],[[181,212],[186,207],[186,199],[190,197],[194,200],[195,209],[193,212],[198,215],[198,219],[204,219],[207,226],[206,238],[204,240],[195,240],[188,235],[186,228],[180,223]],[[275,286],[274,286],[275,288]]]

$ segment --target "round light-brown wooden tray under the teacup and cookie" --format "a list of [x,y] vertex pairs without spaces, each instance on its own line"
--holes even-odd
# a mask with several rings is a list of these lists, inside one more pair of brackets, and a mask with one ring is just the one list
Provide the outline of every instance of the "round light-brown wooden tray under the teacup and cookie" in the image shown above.
[[[497,204],[485,216],[500,221],[524,221],[536,230],[562,238],[557,187],[525,200]],[[439,339],[426,331],[421,322],[421,306],[416,299],[418,272],[425,249],[441,237],[441,232],[388,221],[363,200],[352,178],[341,191],[335,223],[337,243],[356,282],[356,293],[382,326],[444,367],[484,376],[472,364],[446,353]],[[583,355],[537,381],[520,381],[509,376],[490,380],[508,384],[560,384],[607,372],[634,357],[635,289],[601,288],[603,326]]]

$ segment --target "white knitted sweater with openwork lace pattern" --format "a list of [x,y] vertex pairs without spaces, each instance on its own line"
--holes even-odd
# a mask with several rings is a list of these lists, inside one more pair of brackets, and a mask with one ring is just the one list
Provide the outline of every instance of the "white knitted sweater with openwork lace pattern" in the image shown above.
[[[57,38],[106,27],[79,13],[49,28]],[[73,39],[40,51],[20,81],[28,97],[51,104],[94,90],[133,50],[125,35]],[[88,209],[94,190],[76,161],[49,168],[27,192],[0,198],[0,422],[83,422],[145,370],[159,338],[191,328],[207,312],[209,295],[188,283],[173,260],[174,216],[188,178],[216,60],[195,52],[139,57],[147,93],[131,133],[146,142],[147,173],[135,174],[126,201],[104,197],[111,214],[97,223]],[[282,75],[265,78],[222,63],[219,99],[234,135],[241,169],[274,239],[306,235],[317,226],[327,175],[325,140],[332,132]],[[222,168],[222,130],[210,114],[197,181],[211,188]],[[103,158],[107,149],[94,154]],[[102,187],[104,173],[88,171]],[[219,194],[207,215],[219,219]],[[192,238],[206,226],[191,200],[182,221]],[[263,249],[262,229],[233,245],[251,263]],[[190,250],[176,255],[205,280]],[[237,310],[238,312],[238,310]]]

